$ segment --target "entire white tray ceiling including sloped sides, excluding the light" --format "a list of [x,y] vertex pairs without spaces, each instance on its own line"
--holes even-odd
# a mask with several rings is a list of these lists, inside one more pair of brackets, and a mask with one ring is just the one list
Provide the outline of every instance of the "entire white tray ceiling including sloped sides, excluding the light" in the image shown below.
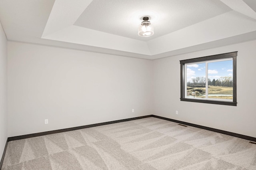
[[10,41],[158,59],[256,39],[256,1],[0,0],[0,21]]

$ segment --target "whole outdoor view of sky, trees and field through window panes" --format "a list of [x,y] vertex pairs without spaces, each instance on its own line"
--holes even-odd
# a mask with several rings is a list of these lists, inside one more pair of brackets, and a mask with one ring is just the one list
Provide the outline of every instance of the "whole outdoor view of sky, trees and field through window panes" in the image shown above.
[[186,97],[232,100],[233,85],[232,58],[186,65]]

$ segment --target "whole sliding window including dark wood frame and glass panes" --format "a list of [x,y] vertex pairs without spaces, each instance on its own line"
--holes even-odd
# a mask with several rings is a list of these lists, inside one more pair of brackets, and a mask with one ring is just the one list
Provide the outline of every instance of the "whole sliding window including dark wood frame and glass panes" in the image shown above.
[[236,106],[236,52],[180,61],[180,100]]

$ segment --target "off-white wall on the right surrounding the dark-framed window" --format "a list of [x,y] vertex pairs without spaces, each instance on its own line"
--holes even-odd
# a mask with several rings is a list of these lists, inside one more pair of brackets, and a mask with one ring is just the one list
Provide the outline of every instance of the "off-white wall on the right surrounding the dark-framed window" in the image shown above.
[[[180,101],[180,60],[232,51],[238,51],[237,106]],[[255,63],[256,41],[154,60],[154,114],[256,137]]]

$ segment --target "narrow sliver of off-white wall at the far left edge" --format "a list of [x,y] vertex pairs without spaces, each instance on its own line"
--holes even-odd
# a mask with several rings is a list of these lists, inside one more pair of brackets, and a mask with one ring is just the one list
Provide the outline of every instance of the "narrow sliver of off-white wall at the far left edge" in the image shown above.
[[7,38],[0,22],[0,160],[7,140]]

